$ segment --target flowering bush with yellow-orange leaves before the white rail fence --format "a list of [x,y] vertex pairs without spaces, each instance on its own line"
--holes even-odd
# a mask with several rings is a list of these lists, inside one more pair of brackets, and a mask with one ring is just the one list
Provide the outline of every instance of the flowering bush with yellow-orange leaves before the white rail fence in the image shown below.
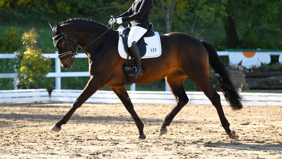
[[18,87],[21,89],[48,88],[46,74],[49,72],[50,59],[42,56],[42,50],[36,45],[35,28],[24,33],[21,51],[16,56],[16,69],[18,72]]

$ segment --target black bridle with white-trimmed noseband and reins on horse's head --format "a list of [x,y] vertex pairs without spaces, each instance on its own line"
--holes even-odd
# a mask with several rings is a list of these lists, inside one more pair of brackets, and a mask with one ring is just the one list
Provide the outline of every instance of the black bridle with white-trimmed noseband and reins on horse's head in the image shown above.
[[[118,23],[116,23],[116,24],[114,24],[114,25],[111,25],[111,28],[114,27],[114,26],[117,25],[117,24],[118,24]],[[109,24],[108,24],[108,25],[109,25]],[[107,25],[107,26],[108,26],[108,25]],[[106,27],[107,27],[107,26],[106,26]],[[60,27],[61,33],[58,34],[58,35],[56,35],[55,37],[53,37],[53,43],[54,43],[54,46],[57,47],[58,41],[59,41],[61,38],[65,38],[65,41],[67,42],[68,52],[65,52],[65,53],[62,53],[62,54],[58,54],[58,57],[57,57],[57,58],[59,58],[59,59],[65,59],[65,60],[74,60],[73,58],[74,58],[74,57],[77,57],[78,54],[79,54],[82,50],[86,49],[89,45],[91,45],[92,43],[94,43],[98,38],[100,38],[102,35],[104,35],[104,34],[107,33],[109,30],[111,30],[111,28],[108,28],[107,31],[105,31],[104,33],[102,33],[99,37],[97,37],[95,40],[93,40],[90,44],[88,44],[87,46],[84,46],[83,49],[81,49],[81,47],[80,47],[80,48],[77,48],[77,50],[75,51],[75,50],[73,49],[73,47],[70,45],[70,42],[69,42],[69,40],[68,40],[67,38],[69,38],[70,40],[72,40],[72,41],[74,41],[74,42],[76,42],[76,41],[75,41],[74,39],[70,38],[69,36],[67,36],[67,35],[63,32],[62,27]],[[61,35],[62,35],[62,37],[60,37]],[[58,40],[56,40],[56,39],[58,39]],[[79,45],[78,42],[76,42],[76,44]],[[69,45],[70,45],[70,48],[72,49],[73,52],[69,50]],[[72,56],[70,59],[62,58],[63,56],[68,55],[68,54],[73,54],[73,56]]]

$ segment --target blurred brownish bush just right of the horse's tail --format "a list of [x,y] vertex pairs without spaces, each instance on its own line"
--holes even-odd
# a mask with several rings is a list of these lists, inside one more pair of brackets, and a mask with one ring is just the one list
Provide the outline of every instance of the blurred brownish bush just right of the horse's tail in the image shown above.
[[230,79],[236,89],[239,89],[243,84],[242,90],[249,90],[249,84],[246,82],[245,74],[242,71],[229,68]]

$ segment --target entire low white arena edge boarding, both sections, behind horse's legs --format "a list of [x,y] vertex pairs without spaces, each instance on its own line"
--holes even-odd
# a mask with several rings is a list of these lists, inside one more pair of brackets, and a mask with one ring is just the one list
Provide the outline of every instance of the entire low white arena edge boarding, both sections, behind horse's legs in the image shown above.
[[[82,90],[53,90],[51,96],[46,89],[0,90],[0,103],[58,101],[74,102]],[[188,104],[211,105],[203,92],[186,92]],[[222,92],[218,92],[222,105],[228,105]],[[128,91],[133,104],[175,104],[174,95],[167,91]],[[250,106],[282,106],[282,94],[278,93],[241,93]],[[98,90],[86,103],[122,104],[113,91]]]

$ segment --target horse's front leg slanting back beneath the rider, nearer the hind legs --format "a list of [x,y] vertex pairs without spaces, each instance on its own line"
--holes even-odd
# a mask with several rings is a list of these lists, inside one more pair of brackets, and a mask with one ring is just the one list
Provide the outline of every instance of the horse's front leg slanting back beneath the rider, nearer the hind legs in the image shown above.
[[122,101],[123,105],[129,112],[129,114],[132,116],[138,131],[139,135],[137,136],[138,139],[146,139],[146,135],[143,132],[144,124],[136,114],[133,104],[128,96],[128,93],[125,89],[125,87],[111,87],[112,91],[115,92],[115,94],[118,96],[118,98]]

